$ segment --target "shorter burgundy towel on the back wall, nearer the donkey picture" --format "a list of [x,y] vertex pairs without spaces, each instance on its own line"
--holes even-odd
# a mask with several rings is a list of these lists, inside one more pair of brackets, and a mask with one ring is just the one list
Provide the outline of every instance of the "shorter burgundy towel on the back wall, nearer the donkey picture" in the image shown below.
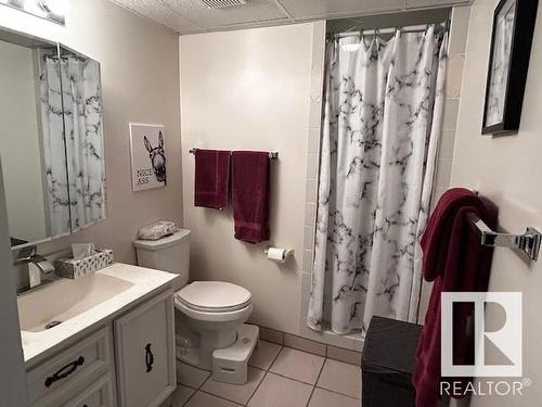
[[222,209],[228,206],[230,152],[195,151],[194,205]]

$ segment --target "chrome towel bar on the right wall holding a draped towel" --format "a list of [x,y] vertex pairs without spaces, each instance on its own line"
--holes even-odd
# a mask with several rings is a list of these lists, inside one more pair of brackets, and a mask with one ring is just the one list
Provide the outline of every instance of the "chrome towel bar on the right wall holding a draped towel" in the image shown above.
[[474,214],[470,215],[470,220],[481,233],[482,245],[519,250],[527,253],[531,260],[537,262],[542,241],[542,234],[537,229],[528,227],[524,234],[498,233]]

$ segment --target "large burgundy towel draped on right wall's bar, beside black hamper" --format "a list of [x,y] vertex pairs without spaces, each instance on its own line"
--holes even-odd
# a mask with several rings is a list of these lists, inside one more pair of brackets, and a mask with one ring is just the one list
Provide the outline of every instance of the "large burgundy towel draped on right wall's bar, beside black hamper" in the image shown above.
[[[496,208],[489,201],[467,189],[448,190],[438,202],[422,238],[424,277],[435,282],[412,377],[416,407],[435,407],[439,397],[441,292],[488,290],[492,247],[480,244],[480,232],[469,214],[478,216],[490,228],[495,227]],[[472,330],[467,329],[472,315],[468,304],[454,307],[453,358],[457,365],[472,364],[473,360],[474,341]],[[468,378],[461,381],[465,383]]]

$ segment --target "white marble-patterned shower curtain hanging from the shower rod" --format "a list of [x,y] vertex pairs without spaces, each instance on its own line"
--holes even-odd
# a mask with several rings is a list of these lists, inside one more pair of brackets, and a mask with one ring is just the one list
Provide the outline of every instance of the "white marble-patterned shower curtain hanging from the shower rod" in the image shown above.
[[345,334],[364,332],[373,315],[416,319],[447,38],[429,26],[387,42],[327,43],[312,329]]

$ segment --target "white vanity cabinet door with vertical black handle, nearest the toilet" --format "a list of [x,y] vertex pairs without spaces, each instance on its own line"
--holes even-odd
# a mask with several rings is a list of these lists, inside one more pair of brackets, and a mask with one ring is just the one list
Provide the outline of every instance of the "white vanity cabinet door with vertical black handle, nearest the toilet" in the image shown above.
[[120,407],[159,406],[176,387],[172,291],[114,322]]

